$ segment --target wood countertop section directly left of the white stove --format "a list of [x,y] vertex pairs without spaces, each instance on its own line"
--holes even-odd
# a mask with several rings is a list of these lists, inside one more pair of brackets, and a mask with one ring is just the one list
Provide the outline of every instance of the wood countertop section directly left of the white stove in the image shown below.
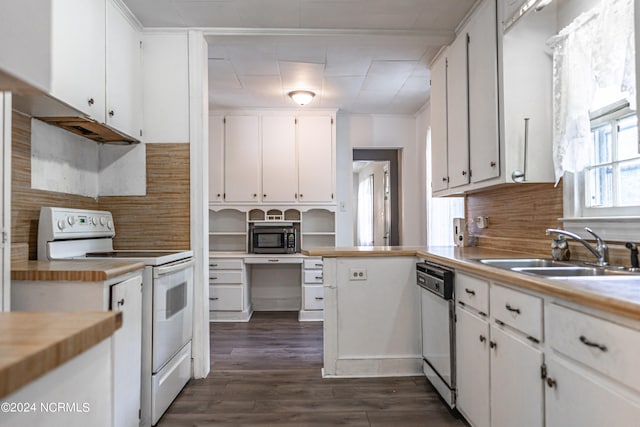
[[23,261],[11,264],[11,280],[101,282],[143,268],[122,260]]

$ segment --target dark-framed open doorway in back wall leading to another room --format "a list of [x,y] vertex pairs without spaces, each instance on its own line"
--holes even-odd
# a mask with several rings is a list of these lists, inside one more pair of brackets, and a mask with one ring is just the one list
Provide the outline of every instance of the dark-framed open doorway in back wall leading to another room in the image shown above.
[[397,246],[399,150],[353,150],[353,242],[355,246]]

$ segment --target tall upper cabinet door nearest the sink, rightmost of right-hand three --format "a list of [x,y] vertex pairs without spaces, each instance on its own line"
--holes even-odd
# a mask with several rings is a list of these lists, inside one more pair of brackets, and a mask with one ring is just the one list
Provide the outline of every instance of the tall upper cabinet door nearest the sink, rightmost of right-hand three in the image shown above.
[[469,150],[471,181],[500,175],[496,0],[485,0],[469,22]]

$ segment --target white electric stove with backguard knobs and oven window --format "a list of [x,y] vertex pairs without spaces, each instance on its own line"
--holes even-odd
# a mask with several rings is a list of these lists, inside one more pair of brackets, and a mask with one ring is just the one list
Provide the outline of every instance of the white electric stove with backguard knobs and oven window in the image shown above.
[[[38,259],[143,262],[141,426],[157,424],[191,378],[193,252],[114,250],[108,211],[43,207]],[[151,244],[150,244],[151,246]]]

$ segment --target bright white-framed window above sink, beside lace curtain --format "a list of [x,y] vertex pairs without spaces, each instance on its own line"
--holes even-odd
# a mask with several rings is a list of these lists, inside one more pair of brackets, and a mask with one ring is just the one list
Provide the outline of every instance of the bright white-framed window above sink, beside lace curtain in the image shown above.
[[625,208],[640,206],[637,115],[628,103],[620,102],[590,116],[592,144],[583,176],[583,214],[625,214]]

